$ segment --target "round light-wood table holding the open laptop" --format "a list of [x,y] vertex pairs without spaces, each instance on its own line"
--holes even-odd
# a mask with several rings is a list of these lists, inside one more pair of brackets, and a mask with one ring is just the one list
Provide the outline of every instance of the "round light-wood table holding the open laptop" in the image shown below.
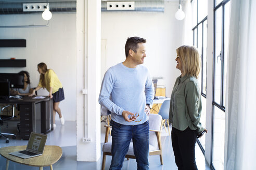
[[53,170],[53,164],[56,163],[62,155],[62,149],[59,146],[47,145],[44,148],[43,154],[38,157],[22,159],[9,154],[10,152],[25,150],[26,147],[27,146],[9,146],[0,148],[0,154],[7,159],[6,170],[8,170],[9,167],[9,160],[29,166],[39,166],[40,170],[42,170],[44,166],[50,166],[50,169]]

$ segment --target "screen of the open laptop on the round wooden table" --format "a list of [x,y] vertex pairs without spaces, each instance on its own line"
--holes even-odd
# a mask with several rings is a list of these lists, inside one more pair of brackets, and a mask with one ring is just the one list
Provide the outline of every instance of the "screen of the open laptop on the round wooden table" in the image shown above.
[[43,153],[47,135],[31,132],[27,149]]

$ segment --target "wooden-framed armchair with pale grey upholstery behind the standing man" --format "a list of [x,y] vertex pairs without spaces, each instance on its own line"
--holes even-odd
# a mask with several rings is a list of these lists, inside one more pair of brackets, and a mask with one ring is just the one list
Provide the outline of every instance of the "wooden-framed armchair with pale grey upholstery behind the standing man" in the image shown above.
[[[161,122],[162,117],[156,114],[149,115],[149,155],[159,155],[160,156],[160,163],[163,165],[163,158],[162,158],[162,145],[161,145]],[[109,136],[109,129],[111,126],[105,125],[106,134],[105,134],[105,142],[103,145],[103,160],[102,160],[102,167],[101,169],[105,169],[105,162],[106,162],[106,155],[111,154],[111,146],[112,142],[108,141]],[[131,141],[129,150],[125,155],[125,158],[135,159],[135,155],[133,152],[133,143]]]

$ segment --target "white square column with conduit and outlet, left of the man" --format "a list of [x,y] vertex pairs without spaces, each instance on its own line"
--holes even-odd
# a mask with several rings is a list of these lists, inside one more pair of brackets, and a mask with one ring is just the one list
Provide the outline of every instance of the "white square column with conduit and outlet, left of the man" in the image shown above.
[[[100,158],[100,8],[100,0],[76,1],[77,161]],[[83,137],[91,138],[91,142],[83,143]]]

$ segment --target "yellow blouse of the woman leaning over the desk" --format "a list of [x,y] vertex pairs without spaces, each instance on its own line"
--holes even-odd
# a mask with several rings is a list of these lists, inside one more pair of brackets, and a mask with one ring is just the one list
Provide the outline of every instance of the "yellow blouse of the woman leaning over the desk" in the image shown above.
[[44,75],[45,87],[42,86],[42,81],[39,81],[38,86],[42,88],[46,88],[46,90],[50,91],[50,87],[53,88],[53,94],[62,88],[62,84],[59,81],[58,76],[54,73],[54,70],[48,69]]

